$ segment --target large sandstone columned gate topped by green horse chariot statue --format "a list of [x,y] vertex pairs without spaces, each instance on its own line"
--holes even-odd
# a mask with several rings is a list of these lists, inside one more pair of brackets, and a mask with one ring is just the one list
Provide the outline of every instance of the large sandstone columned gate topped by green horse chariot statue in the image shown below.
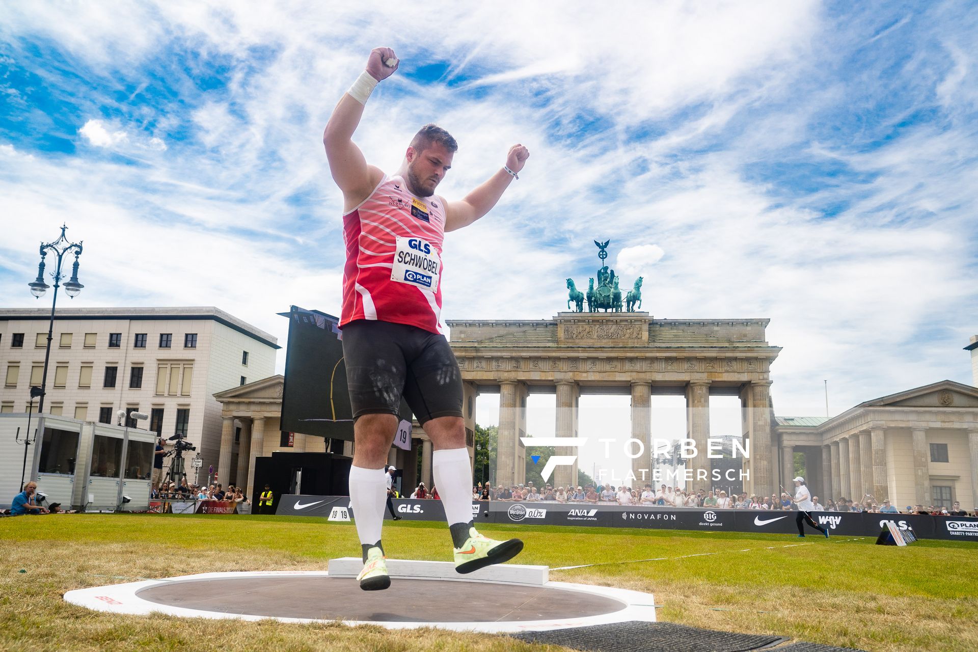
[[[568,287],[573,287],[570,280]],[[617,279],[614,287],[617,291]],[[592,294],[589,289],[589,310],[594,310]],[[621,311],[621,301],[617,303]],[[582,310],[581,302],[577,308]],[[520,437],[526,436],[528,394],[556,393],[557,437],[577,437],[582,394],[630,394],[631,433],[609,434],[622,442],[630,434],[645,443],[645,454],[633,459],[632,467],[638,482],[645,485],[651,482],[647,469],[653,468],[651,395],[686,396],[686,436],[697,451],[687,467],[705,468],[707,473],[710,396],[738,396],[742,434],[749,443],[745,446],[749,457],[743,460],[743,470],[749,472],[744,488],[770,496],[778,488],[770,370],[780,348],[767,342],[768,323],[763,319],[657,320],[644,312],[566,312],[540,321],[449,322],[452,350],[465,383],[466,427],[474,431],[475,396],[480,391],[499,391],[497,483],[509,486],[525,476]],[[569,448],[556,451],[556,455],[576,454]],[[642,469],[646,469],[645,481]],[[576,481],[576,464],[556,467],[555,486],[576,485]],[[691,487],[707,490],[710,484],[709,479],[697,480],[694,475]]]

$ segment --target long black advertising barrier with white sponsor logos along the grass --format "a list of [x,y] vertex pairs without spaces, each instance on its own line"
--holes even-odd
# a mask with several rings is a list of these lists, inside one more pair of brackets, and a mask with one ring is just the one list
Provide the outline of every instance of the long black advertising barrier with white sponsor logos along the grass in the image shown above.
[[[445,519],[441,500],[395,499],[392,503],[394,511],[405,520]],[[353,513],[350,499],[346,496],[282,496],[276,513],[329,517],[334,506],[346,507],[351,515]],[[561,502],[472,502],[472,519],[476,522],[708,532],[797,534],[797,513],[761,509],[641,507]],[[918,539],[978,543],[978,518],[834,511],[812,512],[812,517],[833,536],[875,537],[887,521],[893,521],[901,530],[912,529]],[[390,518],[386,510],[384,518]],[[812,532],[808,534],[817,535]]]

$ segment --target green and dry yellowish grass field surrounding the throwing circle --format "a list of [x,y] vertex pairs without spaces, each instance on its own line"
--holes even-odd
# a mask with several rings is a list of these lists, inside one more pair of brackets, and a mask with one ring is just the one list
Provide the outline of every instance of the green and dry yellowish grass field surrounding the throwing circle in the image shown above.
[[[480,525],[526,542],[551,579],[655,594],[661,621],[865,650],[978,649],[978,546],[786,535]],[[797,543],[805,543],[797,545]],[[451,560],[443,524],[385,523],[390,557]],[[0,650],[557,650],[438,630],[392,632],[103,614],[73,588],[201,572],[323,570],[356,555],[352,524],[320,518],[83,514],[0,520]],[[712,553],[705,556],[686,556]],[[627,562],[666,557],[662,561]],[[23,569],[26,572],[21,573]],[[439,605],[430,605],[437,609]]]

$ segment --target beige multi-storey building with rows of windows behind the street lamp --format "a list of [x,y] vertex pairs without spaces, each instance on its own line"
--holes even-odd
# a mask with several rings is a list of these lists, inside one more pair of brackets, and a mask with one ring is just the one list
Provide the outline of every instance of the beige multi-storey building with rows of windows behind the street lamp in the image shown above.
[[[0,310],[0,412],[26,412],[30,387],[41,384],[49,317],[48,308]],[[147,413],[135,427],[167,439],[183,432],[205,476],[219,465],[213,395],[272,375],[279,348],[273,335],[213,307],[59,308],[44,411],[103,423],[116,423],[118,411]]]

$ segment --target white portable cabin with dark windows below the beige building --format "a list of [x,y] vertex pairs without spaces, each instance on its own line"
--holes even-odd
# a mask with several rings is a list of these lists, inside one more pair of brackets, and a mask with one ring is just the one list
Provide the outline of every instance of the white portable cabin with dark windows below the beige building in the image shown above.
[[[26,431],[26,413],[0,414],[4,507],[21,491]],[[155,432],[51,414],[31,414],[30,431],[24,482],[37,483],[45,504],[87,511],[149,508]]]

